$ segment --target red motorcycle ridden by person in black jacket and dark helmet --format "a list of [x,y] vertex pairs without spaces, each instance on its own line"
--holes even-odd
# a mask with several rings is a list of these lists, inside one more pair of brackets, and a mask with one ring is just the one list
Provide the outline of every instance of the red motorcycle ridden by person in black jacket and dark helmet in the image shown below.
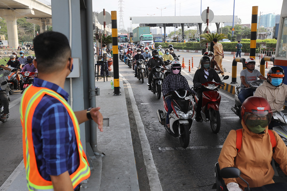
[[[224,76],[224,80],[228,79],[229,76]],[[196,83],[194,89],[200,88],[203,90],[202,93],[202,106],[201,106],[201,118],[203,121],[210,121],[211,130],[213,133],[218,133],[220,130],[220,113],[219,105],[221,101],[221,95],[218,92],[220,83],[209,81],[206,83]],[[194,97],[197,104],[198,98]]]

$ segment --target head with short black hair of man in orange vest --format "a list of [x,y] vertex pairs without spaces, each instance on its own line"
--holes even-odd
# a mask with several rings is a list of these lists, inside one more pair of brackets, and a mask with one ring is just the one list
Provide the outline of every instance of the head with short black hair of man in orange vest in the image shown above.
[[33,39],[33,44],[39,72],[61,71],[71,57],[69,41],[60,32],[43,32]]

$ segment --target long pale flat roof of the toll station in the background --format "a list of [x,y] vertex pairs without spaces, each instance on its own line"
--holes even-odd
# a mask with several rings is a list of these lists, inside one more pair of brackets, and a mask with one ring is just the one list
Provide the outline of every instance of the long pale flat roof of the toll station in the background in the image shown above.
[[[156,16],[156,17],[129,17],[132,24],[197,24],[205,23],[201,16]],[[214,19],[210,23],[230,23],[233,15],[214,15]],[[239,22],[237,16],[234,15],[234,23]]]

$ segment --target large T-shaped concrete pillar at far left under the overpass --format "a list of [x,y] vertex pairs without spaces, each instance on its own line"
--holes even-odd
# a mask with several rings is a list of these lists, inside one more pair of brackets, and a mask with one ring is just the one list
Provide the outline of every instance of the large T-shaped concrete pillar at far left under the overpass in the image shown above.
[[18,30],[17,19],[25,17],[25,15],[34,15],[34,11],[31,9],[17,9],[17,12],[12,9],[0,10],[1,17],[5,18],[7,23],[8,32],[8,46],[17,48],[18,42]]

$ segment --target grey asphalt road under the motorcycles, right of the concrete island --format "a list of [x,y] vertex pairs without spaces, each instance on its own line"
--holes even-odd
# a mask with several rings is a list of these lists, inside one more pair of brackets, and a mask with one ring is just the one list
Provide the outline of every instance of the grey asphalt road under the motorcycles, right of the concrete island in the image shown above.
[[[193,57],[194,66],[195,63],[198,66],[201,58],[201,55],[198,53],[177,52],[177,54],[181,55],[181,58],[185,58],[185,63],[188,63],[188,60],[191,60],[191,57]],[[233,59],[233,55],[226,57],[230,57],[230,60]],[[223,65],[227,71],[229,67],[231,69],[230,61],[223,61]],[[218,134],[212,133],[209,122],[199,123],[194,121],[191,128],[189,147],[183,149],[179,138],[169,135],[164,126],[158,122],[156,111],[158,109],[163,110],[163,100],[162,98],[158,100],[156,94],[148,91],[146,84],[148,79],[145,78],[142,84],[141,81],[134,77],[134,71],[129,69],[123,62],[120,61],[119,67],[120,73],[131,84],[162,189],[213,190],[212,185],[215,182],[214,164],[218,160],[221,147],[230,130],[241,128],[241,120],[230,109],[234,106],[233,95],[222,89],[219,90],[222,99],[219,110],[221,129]],[[185,69],[185,71],[188,70]],[[193,86],[192,77],[195,73],[194,71],[191,71],[189,75],[182,72],[190,87]],[[222,77],[220,76],[220,78]],[[127,104],[129,104],[128,101]],[[137,147],[135,148],[134,146],[134,150],[137,150]],[[138,171],[138,174],[140,174],[140,171]],[[140,179],[141,177],[139,176],[139,182]],[[286,179],[284,180],[286,181]]]

